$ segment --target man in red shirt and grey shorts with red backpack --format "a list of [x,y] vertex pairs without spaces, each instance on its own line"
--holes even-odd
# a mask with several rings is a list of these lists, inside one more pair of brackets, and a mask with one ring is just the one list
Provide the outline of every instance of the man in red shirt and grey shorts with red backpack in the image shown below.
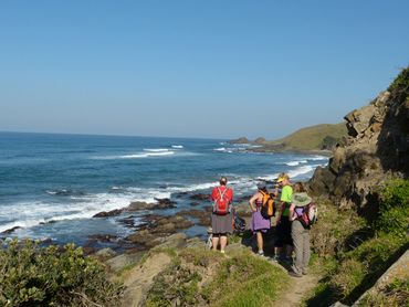
[[233,190],[227,187],[228,179],[226,177],[221,177],[219,182],[220,186],[214,187],[211,192],[213,201],[213,212],[211,214],[212,250],[216,251],[220,242],[220,252],[224,253],[228,234],[233,232],[233,210],[231,204]]

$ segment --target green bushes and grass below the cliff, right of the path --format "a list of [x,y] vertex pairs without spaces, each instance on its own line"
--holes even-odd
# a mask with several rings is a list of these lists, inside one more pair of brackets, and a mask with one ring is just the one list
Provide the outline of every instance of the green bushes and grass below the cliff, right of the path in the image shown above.
[[[378,216],[374,221],[366,223],[355,219],[352,222],[345,214],[334,214],[337,221],[322,219],[324,225],[315,231],[324,237],[327,234],[322,231],[331,232],[335,239],[331,248],[318,248],[326,258],[318,260],[315,266],[324,268],[326,277],[307,300],[307,306],[329,306],[336,300],[353,304],[408,248],[409,181],[391,180],[380,195]],[[405,287],[395,288],[394,296],[405,295]]]

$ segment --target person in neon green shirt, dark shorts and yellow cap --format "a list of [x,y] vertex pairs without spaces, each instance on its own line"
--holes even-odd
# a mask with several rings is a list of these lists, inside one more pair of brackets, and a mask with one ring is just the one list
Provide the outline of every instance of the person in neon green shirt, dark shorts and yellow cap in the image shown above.
[[293,240],[291,237],[290,207],[293,199],[293,188],[291,187],[290,177],[286,173],[279,177],[277,183],[282,184],[283,188],[280,197],[281,204],[275,227],[277,240],[274,245],[274,261],[279,261],[279,257],[283,257],[285,262],[291,263]]

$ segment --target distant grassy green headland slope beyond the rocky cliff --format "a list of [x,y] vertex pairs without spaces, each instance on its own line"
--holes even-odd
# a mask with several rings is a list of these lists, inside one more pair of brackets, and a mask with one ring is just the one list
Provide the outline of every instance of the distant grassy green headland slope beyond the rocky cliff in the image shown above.
[[326,136],[342,138],[347,135],[345,123],[340,124],[322,124],[302,128],[282,139],[270,141],[269,144],[284,144],[285,149],[291,150],[319,150],[323,139]]

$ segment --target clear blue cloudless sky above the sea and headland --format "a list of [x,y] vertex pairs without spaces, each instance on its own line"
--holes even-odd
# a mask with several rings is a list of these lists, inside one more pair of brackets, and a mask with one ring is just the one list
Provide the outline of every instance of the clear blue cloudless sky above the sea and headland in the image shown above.
[[0,130],[274,139],[409,64],[409,1],[0,1]]

